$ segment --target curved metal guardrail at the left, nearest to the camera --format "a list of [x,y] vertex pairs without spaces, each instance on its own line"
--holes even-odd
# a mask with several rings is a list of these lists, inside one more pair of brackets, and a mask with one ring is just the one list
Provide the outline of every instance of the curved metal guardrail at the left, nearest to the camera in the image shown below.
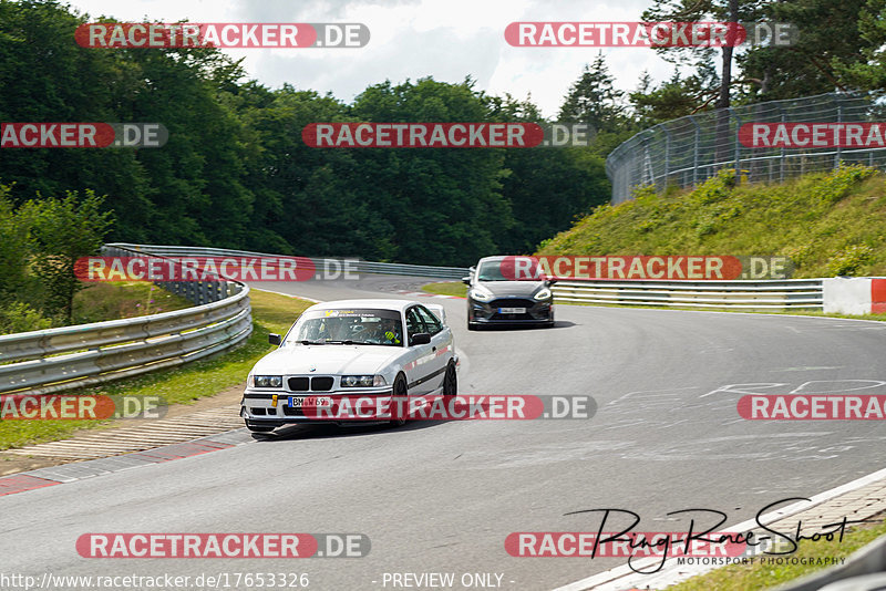
[[[132,252],[120,246],[109,256]],[[0,393],[40,395],[181,365],[230,349],[253,332],[249,288],[175,282],[198,305],[107,322],[0,335]]]

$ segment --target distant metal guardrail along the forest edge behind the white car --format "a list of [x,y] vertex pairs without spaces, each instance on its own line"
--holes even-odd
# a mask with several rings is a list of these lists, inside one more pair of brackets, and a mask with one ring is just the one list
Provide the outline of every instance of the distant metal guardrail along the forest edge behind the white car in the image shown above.
[[[130,245],[117,242],[106,245],[107,247],[126,248],[143,255],[158,255],[163,257],[282,257],[285,255],[269,252],[253,252],[249,250],[233,250],[225,248],[208,247],[183,247],[165,245]],[[343,261],[351,261],[353,270],[362,273],[379,274],[405,274],[412,277],[434,277],[441,279],[461,279],[467,274],[464,267],[432,267],[422,265],[404,265],[399,262],[373,262],[360,259],[347,258],[312,258],[308,257],[317,269],[327,267],[328,261],[341,265]]]

